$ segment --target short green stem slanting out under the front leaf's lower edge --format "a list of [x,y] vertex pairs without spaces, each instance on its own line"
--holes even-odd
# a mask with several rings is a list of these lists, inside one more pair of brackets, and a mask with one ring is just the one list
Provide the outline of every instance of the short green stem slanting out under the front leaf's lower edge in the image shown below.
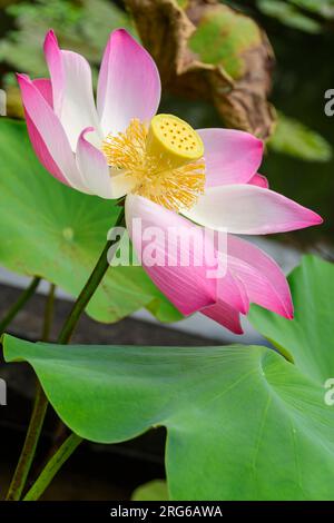
[[42,493],[56,476],[57,472],[61,468],[63,463],[70,457],[70,455],[75,452],[81,442],[82,437],[77,436],[77,434],[71,434],[62,443],[56,454],[53,454],[51,460],[48,462],[36,483],[23,497],[23,501],[36,501],[42,495]]

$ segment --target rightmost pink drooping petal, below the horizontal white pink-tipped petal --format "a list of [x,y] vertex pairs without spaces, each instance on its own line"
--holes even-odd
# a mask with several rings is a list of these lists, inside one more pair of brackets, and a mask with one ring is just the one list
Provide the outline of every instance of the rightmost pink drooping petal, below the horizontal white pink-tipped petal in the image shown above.
[[286,318],[293,317],[293,304],[286,278],[278,265],[249,241],[227,238],[228,267],[244,284],[249,302]]

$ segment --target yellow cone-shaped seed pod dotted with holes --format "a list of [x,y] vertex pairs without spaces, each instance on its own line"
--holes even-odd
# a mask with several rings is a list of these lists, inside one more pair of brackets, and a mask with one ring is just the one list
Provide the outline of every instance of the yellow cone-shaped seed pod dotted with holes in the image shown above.
[[147,154],[160,158],[161,168],[176,168],[204,155],[199,135],[174,115],[157,115],[150,121]]

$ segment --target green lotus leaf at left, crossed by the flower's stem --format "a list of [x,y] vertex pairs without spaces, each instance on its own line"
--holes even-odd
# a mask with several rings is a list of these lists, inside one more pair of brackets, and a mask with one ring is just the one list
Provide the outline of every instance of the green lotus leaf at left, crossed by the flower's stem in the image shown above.
[[[119,209],[55,180],[32,152],[23,122],[0,119],[0,263],[77,296]],[[116,322],[141,307],[160,320],[180,318],[141,267],[112,267],[87,312]]]

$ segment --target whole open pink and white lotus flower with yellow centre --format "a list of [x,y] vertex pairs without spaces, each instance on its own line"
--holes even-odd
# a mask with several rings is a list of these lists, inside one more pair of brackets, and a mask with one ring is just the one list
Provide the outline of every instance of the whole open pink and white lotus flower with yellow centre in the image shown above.
[[[286,279],[265,253],[236,235],[264,235],[320,224],[312,210],[268,189],[257,174],[263,144],[229,129],[195,131],[174,115],[156,115],[160,79],[148,52],[125,30],[111,33],[98,78],[80,55],[45,41],[50,79],[18,75],[35,151],[62,184],[101,198],[125,199],[135,250],[144,229],[174,226],[207,241],[204,227],[227,230],[227,269],[208,278],[205,263],[181,266],[158,241],[164,266],[144,265],[184,314],[200,310],[234,333],[254,302],[287,318],[293,305]],[[219,234],[219,233],[218,233]],[[223,233],[222,233],[223,234]],[[189,245],[194,254],[194,244]],[[174,258],[173,258],[174,257]]]

